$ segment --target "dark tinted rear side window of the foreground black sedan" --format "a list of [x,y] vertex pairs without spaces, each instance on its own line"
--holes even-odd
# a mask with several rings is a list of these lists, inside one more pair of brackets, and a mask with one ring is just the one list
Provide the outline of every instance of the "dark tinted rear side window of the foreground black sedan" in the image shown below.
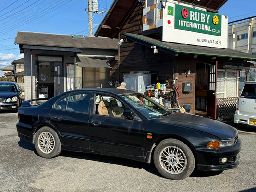
[[90,97],[90,93],[72,93],[57,101],[54,108],[88,113]]

